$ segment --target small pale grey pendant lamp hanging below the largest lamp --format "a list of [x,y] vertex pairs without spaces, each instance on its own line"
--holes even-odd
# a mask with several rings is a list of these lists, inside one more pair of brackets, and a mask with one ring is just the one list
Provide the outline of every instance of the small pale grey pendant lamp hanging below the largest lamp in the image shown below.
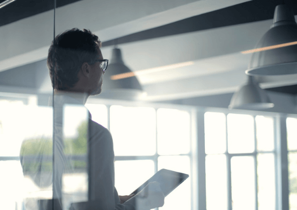
[[253,77],[248,76],[247,84],[236,91],[229,105],[229,109],[268,109],[274,107],[265,90]]

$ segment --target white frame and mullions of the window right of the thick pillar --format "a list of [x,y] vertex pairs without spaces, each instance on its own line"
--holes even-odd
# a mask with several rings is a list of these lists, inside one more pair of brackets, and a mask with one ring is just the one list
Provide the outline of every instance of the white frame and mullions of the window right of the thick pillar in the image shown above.
[[[235,156],[253,156],[254,157],[254,176],[255,176],[255,210],[258,210],[257,205],[257,154],[265,154],[265,153],[273,153],[275,157],[275,209],[288,209],[289,210],[289,186],[288,186],[288,150],[287,150],[287,129],[286,129],[286,118],[288,116],[294,116],[297,118],[297,115],[288,115],[283,113],[273,113],[273,112],[266,112],[266,111],[253,111],[253,110],[229,110],[224,108],[198,108],[197,109],[200,114],[198,114],[198,121],[200,121],[200,125],[204,122],[204,114],[206,112],[218,112],[224,113],[226,116],[226,146],[228,151],[228,130],[227,130],[227,115],[228,114],[245,114],[251,115],[254,120],[254,143],[255,143],[255,151],[253,153],[240,153],[240,154],[227,154],[227,185],[228,185],[228,208],[227,210],[232,210],[232,193],[231,193],[231,158]],[[257,151],[256,148],[256,124],[255,124],[255,117],[265,116],[265,117],[272,117],[274,119],[274,151]],[[203,120],[202,120],[203,119]],[[203,128],[203,130],[202,130]],[[197,128],[198,133],[204,132],[204,125],[198,126]],[[204,136],[199,135],[198,139],[200,141],[205,141]],[[199,144],[200,147],[204,146],[204,143]],[[226,153],[227,153],[226,151]],[[202,153],[200,155],[200,159],[198,159],[198,165],[201,167],[198,168],[200,172],[198,172],[199,180],[204,180],[205,183],[205,151],[203,149],[199,149],[198,153]],[[226,154],[224,153],[224,154]],[[204,157],[202,157],[204,156]],[[202,163],[202,161],[204,163]],[[204,167],[203,167],[204,166]],[[200,182],[199,182],[200,183]],[[205,184],[204,184],[205,186]],[[205,187],[199,187],[198,195],[206,195]],[[199,199],[199,198],[198,198]],[[199,208],[206,209],[206,197],[200,199]]]

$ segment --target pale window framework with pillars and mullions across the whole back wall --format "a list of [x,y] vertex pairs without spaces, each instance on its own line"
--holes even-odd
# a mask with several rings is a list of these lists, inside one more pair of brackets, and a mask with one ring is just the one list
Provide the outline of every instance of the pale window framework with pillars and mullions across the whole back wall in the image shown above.
[[[9,97],[8,97],[9,95]],[[36,95],[13,95],[10,94],[2,94],[0,95],[0,99],[13,99],[14,100],[22,100],[24,104],[29,104],[30,97],[31,101],[38,101]],[[288,117],[297,118],[297,115],[293,114],[283,114],[283,113],[273,113],[266,111],[250,111],[250,110],[228,110],[225,108],[210,108],[210,107],[197,107],[197,106],[188,106],[188,105],[177,105],[177,104],[162,104],[162,103],[149,103],[149,102],[131,102],[131,101],[122,101],[122,100],[110,100],[110,99],[99,99],[96,97],[90,97],[88,99],[88,103],[91,104],[104,104],[107,107],[107,128],[109,129],[110,124],[110,106],[111,105],[121,105],[121,106],[129,106],[129,107],[152,107],[155,109],[155,112],[158,108],[168,108],[168,109],[179,109],[189,112],[190,114],[190,125],[191,125],[191,150],[188,154],[183,154],[190,157],[191,164],[191,209],[206,209],[206,190],[205,190],[205,144],[204,144],[204,114],[205,112],[220,112],[224,113],[226,116],[230,113],[233,114],[247,114],[253,116],[254,119],[254,129],[255,129],[255,116],[267,116],[272,117],[274,119],[274,151],[275,155],[275,182],[276,182],[276,209],[289,209],[289,184],[288,184],[288,151],[287,149],[287,127],[286,127],[286,119]],[[31,103],[30,103],[31,104]],[[226,123],[227,126],[227,123]],[[157,134],[156,134],[157,135]],[[227,128],[226,128],[227,135]],[[256,137],[256,132],[254,132]],[[156,136],[157,138],[157,136]],[[256,141],[256,138],[254,138]],[[228,139],[226,141],[228,144]],[[156,145],[157,146],[157,145]],[[228,146],[228,145],[227,145]],[[227,147],[228,148],[228,147]],[[242,153],[242,154],[228,154],[226,156],[228,162],[227,167],[228,170],[230,167],[231,157],[234,156],[253,156],[255,160],[255,177],[257,173],[257,165],[256,165],[256,156],[261,153],[271,153],[269,152],[257,152],[256,151],[256,142],[255,142],[255,152],[254,153]],[[181,155],[181,156],[183,156]],[[152,160],[155,163],[155,172],[157,171],[157,159],[159,156],[157,152],[153,156],[116,156],[115,161],[124,161],[124,160]],[[7,157],[0,156],[0,161],[10,161],[16,160],[19,161],[19,156]],[[227,173],[227,185],[228,187],[228,210],[231,210],[231,173],[230,170]],[[257,179],[255,178],[255,190],[257,188]],[[257,190],[256,197],[257,197]],[[257,198],[255,200],[255,204],[257,204]],[[257,205],[255,207],[257,210]]]

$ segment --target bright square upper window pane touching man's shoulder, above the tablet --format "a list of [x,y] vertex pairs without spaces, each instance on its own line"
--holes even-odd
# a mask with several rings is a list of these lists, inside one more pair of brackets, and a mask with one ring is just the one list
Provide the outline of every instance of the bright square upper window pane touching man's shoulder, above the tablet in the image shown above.
[[116,156],[154,155],[156,115],[149,107],[110,107],[110,131]]

